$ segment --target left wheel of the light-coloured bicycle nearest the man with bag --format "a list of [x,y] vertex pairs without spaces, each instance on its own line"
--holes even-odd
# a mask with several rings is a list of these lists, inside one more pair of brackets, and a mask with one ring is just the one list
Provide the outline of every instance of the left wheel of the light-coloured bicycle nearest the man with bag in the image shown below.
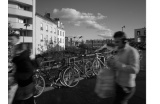
[[92,64],[94,74],[98,75],[101,69],[101,64],[98,60],[94,60]]

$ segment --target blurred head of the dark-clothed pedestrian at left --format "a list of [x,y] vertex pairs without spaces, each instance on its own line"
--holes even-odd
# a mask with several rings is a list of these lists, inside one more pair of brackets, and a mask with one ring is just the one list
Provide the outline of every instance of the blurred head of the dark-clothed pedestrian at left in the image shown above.
[[12,45],[15,45],[19,41],[18,32],[11,33],[10,35],[8,35],[8,37]]

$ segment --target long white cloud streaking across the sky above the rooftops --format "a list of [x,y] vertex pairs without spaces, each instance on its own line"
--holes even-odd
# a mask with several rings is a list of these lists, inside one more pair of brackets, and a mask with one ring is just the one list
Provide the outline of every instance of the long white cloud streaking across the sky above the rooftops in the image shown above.
[[62,8],[61,10],[54,9],[53,15],[60,19],[63,19],[64,21],[68,21],[75,26],[86,24],[87,28],[98,30],[107,29],[104,25],[97,22],[97,20],[107,18],[107,16],[103,16],[101,13],[97,13],[97,16],[95,16],[92,13],[79,12],[72,8]]

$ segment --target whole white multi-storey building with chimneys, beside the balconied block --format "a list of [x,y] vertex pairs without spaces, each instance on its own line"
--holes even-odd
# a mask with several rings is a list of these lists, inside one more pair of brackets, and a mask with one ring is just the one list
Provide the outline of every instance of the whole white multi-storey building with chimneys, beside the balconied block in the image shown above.
[[57,47],[56,51],[65,49],[64,26],[59,19],[51,18],[50,13],[44,16],[36,13],[36,54],[46,51],[49,47]]

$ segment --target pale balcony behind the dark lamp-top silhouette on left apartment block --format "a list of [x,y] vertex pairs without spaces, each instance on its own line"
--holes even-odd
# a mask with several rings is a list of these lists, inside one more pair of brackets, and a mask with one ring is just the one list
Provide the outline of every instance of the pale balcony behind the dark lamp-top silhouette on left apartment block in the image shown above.
[[[32,24],[29,24],[30,26],[27,27],[27,30],[32,30]],[[11,22],[11,26],[15,29],[23,28],[26,29],[26,26],[24,26],[24,23],[17,23],[17,22]]]

